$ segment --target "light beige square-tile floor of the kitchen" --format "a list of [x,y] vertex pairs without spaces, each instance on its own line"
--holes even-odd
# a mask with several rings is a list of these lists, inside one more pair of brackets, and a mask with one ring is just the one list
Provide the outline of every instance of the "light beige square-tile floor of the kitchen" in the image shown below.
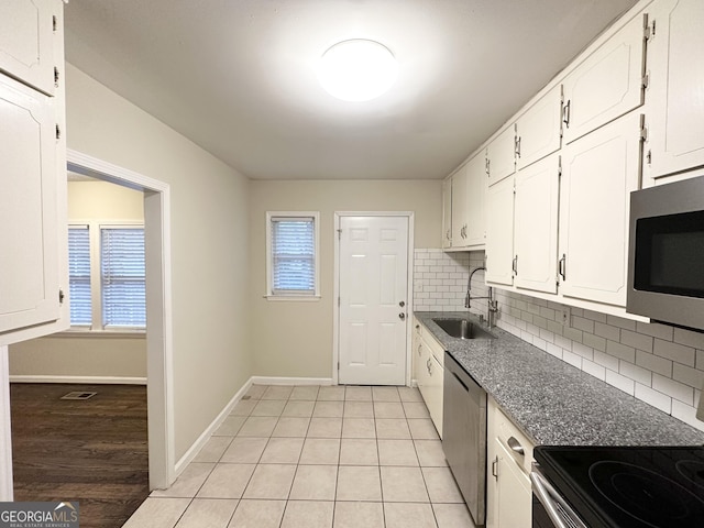
[[129,528],[473,527],[420,393],[253,385]]

